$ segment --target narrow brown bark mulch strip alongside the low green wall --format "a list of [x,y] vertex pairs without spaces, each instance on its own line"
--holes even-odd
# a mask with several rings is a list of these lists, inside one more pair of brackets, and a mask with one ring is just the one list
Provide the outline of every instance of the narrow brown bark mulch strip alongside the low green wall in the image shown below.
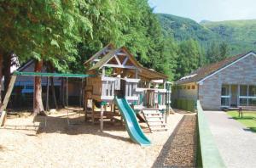
[[196,115],[184,115],[153,167],[195,167],[196,141]]

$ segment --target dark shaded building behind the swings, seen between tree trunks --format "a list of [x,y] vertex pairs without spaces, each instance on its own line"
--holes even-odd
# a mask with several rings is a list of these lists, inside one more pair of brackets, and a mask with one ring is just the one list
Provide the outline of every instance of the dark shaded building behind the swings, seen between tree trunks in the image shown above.
[[[20,72],[33,72],[35,68],[35,61],[29,60],[25,64],[22,64],[20,67],[14,67],[11,72],[18,70]],[[44,67],[42,72],[49,72]],[[50,87],[50,81],[47,77],[41,78],[42,85],[42,98],[44,105],[46,104],[46,92],[47,85],[49,83],[49,105],[53,107],[53,98]],[[81,88],[82,81],[81,79],[69,79],[66,81],[66,78],[54,77],[54,86],[55,86],[55,97],[57,104],[67,104],[67,94],[68,94],[68,104],[69,105],[79,105],[82,104]],[[62,88],[61,88],[62,85]],[[68,90],[67,90],[68,88]],[[20,107],[32,107],[33,102],[33,92],[34,92],[34,77],[33,76],[17,76],[15,81],[15,87],[11,94],[9,107],[11,108],[20,108]]]

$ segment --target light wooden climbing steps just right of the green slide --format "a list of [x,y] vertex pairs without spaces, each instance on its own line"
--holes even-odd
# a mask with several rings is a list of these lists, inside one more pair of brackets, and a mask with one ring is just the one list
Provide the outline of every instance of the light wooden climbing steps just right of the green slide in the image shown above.
[[143,115],[150,132],[167,131],[167,125],[159,110],[143,109]]

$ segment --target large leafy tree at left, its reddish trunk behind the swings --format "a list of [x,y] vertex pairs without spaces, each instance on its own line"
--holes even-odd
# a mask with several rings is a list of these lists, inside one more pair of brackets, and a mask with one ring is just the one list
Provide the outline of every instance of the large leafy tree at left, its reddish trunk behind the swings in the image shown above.
[[[20,60],[50,61],[57,70],[67,70],[74,61],[81,34],[91,34],[90,20],[81,15],[84,1],[0,1],[0,53],[14,51]],[[84,12],[84,11],[83,11]],[[4,36],[3,36],[4,35]],[[1,66],[2,67],[2,66]],[[44,110],[41,80],[35,78],[34,113]]]

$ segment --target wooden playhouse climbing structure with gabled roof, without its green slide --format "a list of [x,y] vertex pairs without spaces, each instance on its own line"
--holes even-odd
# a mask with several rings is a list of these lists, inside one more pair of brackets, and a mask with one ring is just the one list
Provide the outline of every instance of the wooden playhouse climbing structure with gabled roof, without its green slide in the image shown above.
[[[119,116],[114,98],[122,97],[146,121],[151,132],[166,130],[166,114],[171,104],[167,76],[144,68],[127,48],[114,48],[113,44],[102,48],[84,66],[88,74],[95,76],[86,78],[85,120],[100,120],[103,130],[104,120]],[[95,110],[96,104],[100,110]]]

